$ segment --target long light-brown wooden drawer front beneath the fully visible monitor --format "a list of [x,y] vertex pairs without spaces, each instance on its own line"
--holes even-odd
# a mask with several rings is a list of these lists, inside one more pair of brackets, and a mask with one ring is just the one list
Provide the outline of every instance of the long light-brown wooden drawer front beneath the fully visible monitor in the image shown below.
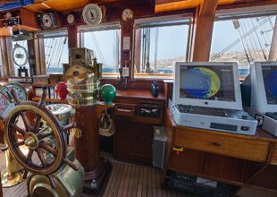
[[195,132],[191,128],[177,129],[174,145],[235,158],[265,161],[268,141],[246,140],[239,136],[222,136],[221,133]]

